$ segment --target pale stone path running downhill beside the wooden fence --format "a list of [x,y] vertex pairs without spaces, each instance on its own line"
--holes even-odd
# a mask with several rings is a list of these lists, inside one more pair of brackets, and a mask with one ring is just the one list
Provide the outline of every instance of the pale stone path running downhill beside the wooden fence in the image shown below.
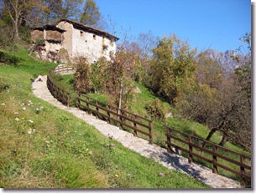
[[43,82],[34,82],[32,89],[34,94],[52,105],[62,110],[71,112],[76,117],[85,120],[86,123],[93,125],[103,135],[112,135],[113,139],[118,140],[123,146],[128,147],[132,151],[138,152],[140,155],[154,159],[161,165],[166,166],[170,170],[180,171],[190,176],[194,176],[197,180],[205,183],[213,188],[240,188],[240,183],[225,176],[212,173],[212,169],[195,163],[188,163],[188,160],[179,155],[169,154],[164,148],[158,145],[150,145],[148,140],[134,137],[133,134],[124,130],[119,130],[117,126],[109,125],[103,120],[98,120],[93,115],[88,115],[85,111],[77,108],[66,107],[56,100],[47,89],[46,75],[43,76]]

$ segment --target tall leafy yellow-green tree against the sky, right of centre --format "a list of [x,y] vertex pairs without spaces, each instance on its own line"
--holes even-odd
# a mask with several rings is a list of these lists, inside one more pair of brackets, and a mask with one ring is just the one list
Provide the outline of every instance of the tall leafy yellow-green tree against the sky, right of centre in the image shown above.
[[153,49],[149,87],[171,104],[195,81],[196,49],[176,36],[163,38]]

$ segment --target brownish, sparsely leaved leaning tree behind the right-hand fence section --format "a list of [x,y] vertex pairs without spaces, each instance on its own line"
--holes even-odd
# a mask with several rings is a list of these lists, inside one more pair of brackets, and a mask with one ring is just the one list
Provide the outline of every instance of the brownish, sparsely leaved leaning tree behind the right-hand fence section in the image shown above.
[[211,140],[216,131],[222,133],[220,145],[232,140],[244,148],[250,149],[250,111],[245,93],[241,93],[235,79],[222,82],[221,89],[211,88],[207,84],[197,84],[185,100],[180,101],[185,117],[207,125],[210,129],[206,140]]

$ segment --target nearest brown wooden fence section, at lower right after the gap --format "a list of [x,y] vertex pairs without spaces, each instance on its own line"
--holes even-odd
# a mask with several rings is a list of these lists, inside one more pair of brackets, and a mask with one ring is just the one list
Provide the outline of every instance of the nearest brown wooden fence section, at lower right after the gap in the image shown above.
[[[224,170],[231,171],[240,176],[242,180],[250,180],[251,166],[248,165],[251,164],[250,156],[245,156],[244,154],[229,150],[221,145],[214,144],[211,141],[203,140],[195,135],[171,129],[170,127],[167,127],[166,136],[167,151],[169,153],[177,152],[177,150],[185,151],[185,153],[188,154],[189,162],[192,162],[193,156],[196,156],[202,161],[207,161],[212,164],[213,173],[217,173],[217,167],[219,166]],[[177,142],[185,145],[177,145]],[[171,146],[175,147],[176,151],[173,151]],[[185,149],[185,146],[187,146],[187,149]],[[228,157],[229,154],[236,156],[238,160]],[[217,159],[220,160],[220,162],[218,162]],[[231,165],[225,165],[221,161],[227,161],[226,163]],[[235,165],[239,171],[232,168],[231,166],[233,165]]]

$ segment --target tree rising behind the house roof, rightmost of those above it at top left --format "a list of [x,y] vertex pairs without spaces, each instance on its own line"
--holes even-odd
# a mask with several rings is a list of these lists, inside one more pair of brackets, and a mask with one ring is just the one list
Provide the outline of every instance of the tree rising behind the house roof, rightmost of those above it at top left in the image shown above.
[[101,13],[94,0],[86,0],[83,13],[81,13],[81,23],[91,27],[97,27],[98,21],[101,19]]

